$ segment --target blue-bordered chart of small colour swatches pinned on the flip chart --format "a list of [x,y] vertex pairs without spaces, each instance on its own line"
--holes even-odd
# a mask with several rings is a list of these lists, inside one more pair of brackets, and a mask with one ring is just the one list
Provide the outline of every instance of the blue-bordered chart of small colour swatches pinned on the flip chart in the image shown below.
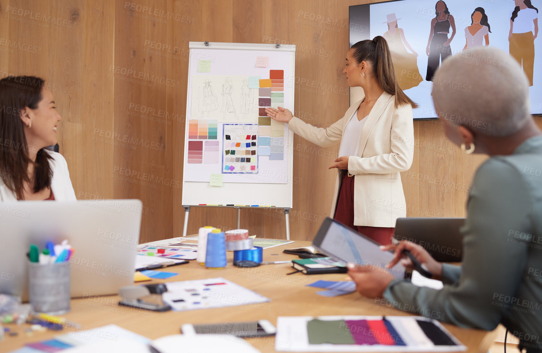
[[258,174],[257,134],[256,124],[224,124],[223,174]]

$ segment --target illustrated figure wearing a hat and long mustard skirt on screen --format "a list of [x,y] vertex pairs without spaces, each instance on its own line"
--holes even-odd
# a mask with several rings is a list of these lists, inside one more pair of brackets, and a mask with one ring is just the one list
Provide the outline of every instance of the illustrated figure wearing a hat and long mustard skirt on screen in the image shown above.
[[[401,18],[397,18],[395,14],[386,17],[388,18],[383,23],[388,23],[388,31],[384,33],[384,38],[390,47],[397,83],[403,91],[406,91],[406,89],[420,85],[420,82],[423,81],[418,70],[418,53],[406,41],[403,29],[397,27],[397,20],[401,20]],[[412,53],[407,52],[407,48]]]

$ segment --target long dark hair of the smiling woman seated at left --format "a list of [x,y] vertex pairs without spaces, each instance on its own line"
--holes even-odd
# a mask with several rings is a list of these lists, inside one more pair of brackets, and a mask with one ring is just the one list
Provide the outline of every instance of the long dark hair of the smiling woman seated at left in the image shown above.
[[[53,170],[49,161],[52,157],[46,149],[37,151],[36,161],[28,156],[29,146],[24,134],[21,112],[24,108],[36,109],[42,100],[41,89],[44,80],[34,76],[8,76],[0,80],[0,181],[23,199],[24,182],[34,192],[51,186]],[[28,176],[28,165],[34,164],[34,175]]]

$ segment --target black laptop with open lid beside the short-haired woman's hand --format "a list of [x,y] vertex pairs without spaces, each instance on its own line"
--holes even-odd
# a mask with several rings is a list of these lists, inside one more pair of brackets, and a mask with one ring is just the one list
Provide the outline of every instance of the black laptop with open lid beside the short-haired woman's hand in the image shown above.
[[419,244],[440,262],[461,262],[464,218],[403,217],[395,223],[393,238]]

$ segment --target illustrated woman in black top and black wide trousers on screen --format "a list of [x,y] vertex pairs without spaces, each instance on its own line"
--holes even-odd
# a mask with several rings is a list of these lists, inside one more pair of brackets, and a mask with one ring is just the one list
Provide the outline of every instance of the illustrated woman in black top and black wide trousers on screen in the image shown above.
[[[451,37],[448,38],[451,27]],[[429,41],[425,53],[429,56],[427,60],[427,75],[425,80],[431,81],[435,71],[440,67],[441,61],[444,61],[451,55],[450,42],[455,36],[455,20],[450,15],[448,6],[442,0],[435,4],[435,18],[431,21],[431,31],[429,32]]]

